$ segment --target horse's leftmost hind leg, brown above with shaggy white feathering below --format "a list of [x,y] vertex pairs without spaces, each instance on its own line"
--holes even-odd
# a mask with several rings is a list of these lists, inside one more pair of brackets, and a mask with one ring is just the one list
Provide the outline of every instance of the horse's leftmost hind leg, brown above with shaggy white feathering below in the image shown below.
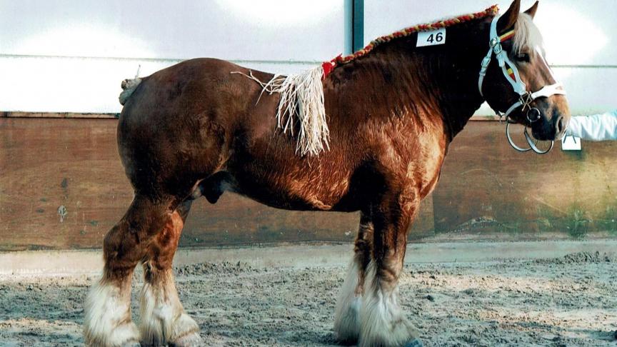
[[84,338],[89,346],[139,346],[131,321],[131,276],[146,244],[169,220],[171,198],[137,195],[124,217],[106,234],[105,266],[84,307]]

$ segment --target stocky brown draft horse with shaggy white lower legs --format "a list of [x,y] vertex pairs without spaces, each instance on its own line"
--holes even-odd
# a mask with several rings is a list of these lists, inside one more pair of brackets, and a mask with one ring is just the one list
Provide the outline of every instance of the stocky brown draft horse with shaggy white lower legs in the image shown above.
[[[416,46],[417,33],[400,35],[338,64],[323,79],[329,149],[318,156],[297,154],[296,136],[276,131],[281,96],[232,74],[251,75],[241,66],[194,59],[134,83],[124,94],[118,146],[135,197],[104,239],[104,273],[86,302],[86,343],[203,343],[179,301],[171,263],[191,201],[203,195],[215,203],[234,191],[278,208],[360,211],[336,334],[360,346],[421,346],[398,306],[397,282],[410,223],[436,186],[453,137],[485,100],[502,112],[520,100],[509,117],[537,139],[558,139],[569,119],[558,88],[529,97],[556,81],[536,49],[537,2],[523,14],[519,6],[515,0],[501,17],[492,10],[456,21],[443,44]],[[491,24],[507,37],[493,40]],[[503,59],[524,95],[506,78]],[[145,271],[139,328],[130,311],[138,263]]]

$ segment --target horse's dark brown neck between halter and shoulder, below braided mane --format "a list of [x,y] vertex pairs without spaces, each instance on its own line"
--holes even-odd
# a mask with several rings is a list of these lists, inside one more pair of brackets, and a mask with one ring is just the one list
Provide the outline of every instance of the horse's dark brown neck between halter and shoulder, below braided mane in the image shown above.
[[[473,27],[459,28],[453,36],[471,35],[472,30]],[[410,43],[401,41],[384,47],[372,58],[358,63],[363,63],[361,69],[384,76],[386,83],[378,84],[375,91],[382,96],[382,102],[390,108],[412,112],[412,119],[418,121],[426,121],[425,117],[441,117],[451,140],[483,102],[477,84],[480,63],[486,52],[453,44],[446,49],[416,49],[409,54],[406,44]],[[391,99],[398,105],[393,105]]]

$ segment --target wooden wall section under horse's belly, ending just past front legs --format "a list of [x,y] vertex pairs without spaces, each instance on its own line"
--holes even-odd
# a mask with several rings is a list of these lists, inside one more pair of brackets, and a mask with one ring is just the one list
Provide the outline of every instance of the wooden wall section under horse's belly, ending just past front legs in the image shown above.
[[[433,231],[432,199],[423,201],[410,238]],[[229,246],[298,241],[353,241],[358,213],[284,211],[226,193],[216,205],[194,203],[183,231],[183,246]]]

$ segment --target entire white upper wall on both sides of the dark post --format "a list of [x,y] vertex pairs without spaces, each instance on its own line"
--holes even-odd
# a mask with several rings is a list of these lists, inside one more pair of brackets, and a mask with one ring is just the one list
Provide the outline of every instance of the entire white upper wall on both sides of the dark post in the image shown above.
[[[365,0],[364,37],[493,1]],[[198,56],[300,71],[344,51],[349,2],[0,0],[0,111],[118,112],[120,81],[137,66],[147,75]],[[616,15],[615,0],[541,1],[536,23],[574,113],[617,108]]]

